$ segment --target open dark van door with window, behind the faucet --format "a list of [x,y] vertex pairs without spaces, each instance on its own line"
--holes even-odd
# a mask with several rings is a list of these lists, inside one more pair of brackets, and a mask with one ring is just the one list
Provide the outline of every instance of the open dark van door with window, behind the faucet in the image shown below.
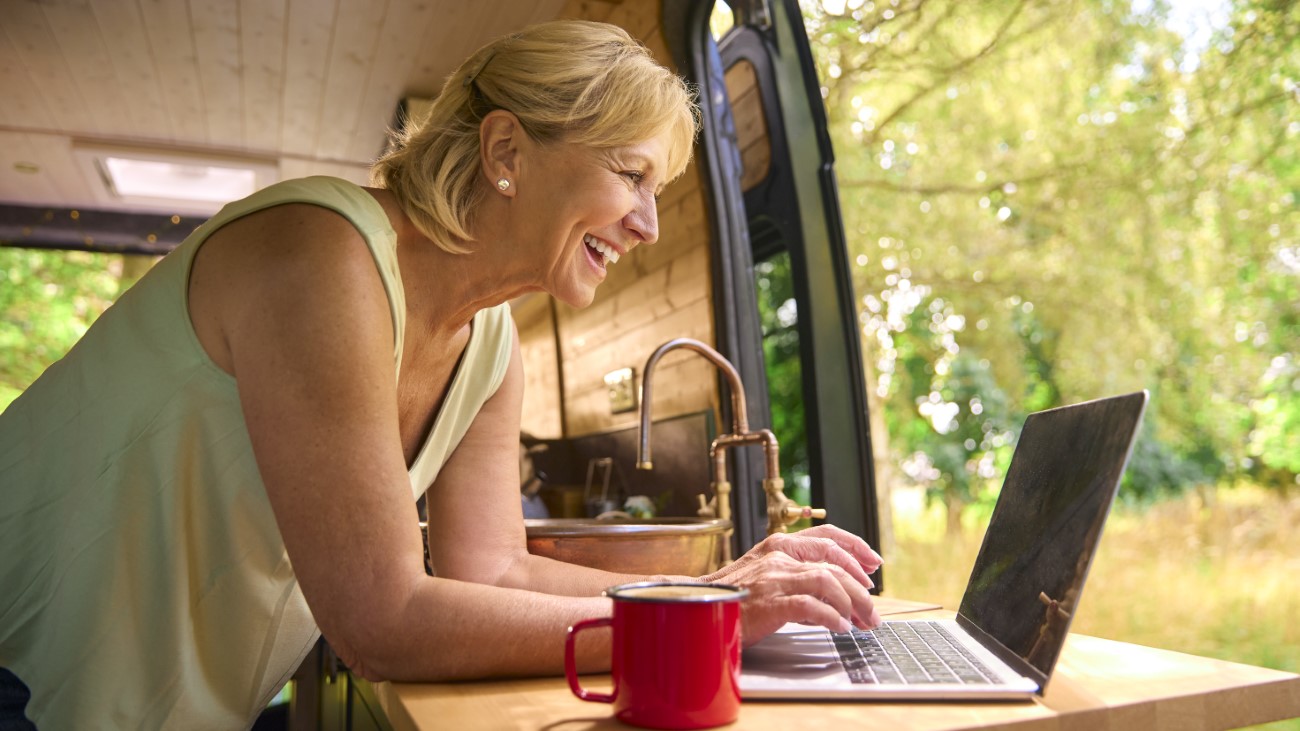
[[[771,428],[776,412],[793,432],[776,433],[783,464],[798,460],[786,489],[807,485],[828,522],[879,546],[861,330],[803,20],[797,0],[728,5],[734,25],[718,39],[711,3],[663,8],[677,68],[699,87],[718,347],[741,372],[753,425]],[[760,307],[781,290],[789,297]],[[797,388],[784,389],[788,381]],[[762,476],[757,457],[736,468],[736,484]],[[763,505],[758,490],[733,494],[744,550],[763,536]]]

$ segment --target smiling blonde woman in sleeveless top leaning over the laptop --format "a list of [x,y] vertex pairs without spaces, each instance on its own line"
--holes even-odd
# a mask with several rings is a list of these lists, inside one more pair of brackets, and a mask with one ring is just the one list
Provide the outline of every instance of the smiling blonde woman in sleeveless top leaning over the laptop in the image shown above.
[[[586,306],[653,245],[694,124],[624,31],[546,23],[467,60],[377,187],[200,226],[0,421],[0,685],[49,728],[225,728],[318,633],[368,679],[559,672],[564,627],[642,578],[526,553],[504,303]],[[750,588],[751,643],[879,622],[879,562],[823,527],[705,579]]]

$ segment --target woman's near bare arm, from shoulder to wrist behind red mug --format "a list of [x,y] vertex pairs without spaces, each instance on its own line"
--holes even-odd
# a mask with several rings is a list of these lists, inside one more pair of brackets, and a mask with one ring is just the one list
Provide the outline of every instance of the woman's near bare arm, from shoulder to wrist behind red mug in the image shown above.
[[425,574],[391,316],[360,234],[283,206],[217,232],[200,258],[195,329],[237,379],[294,572],[339,657],[372,679],[559,672],[566,627],[606,600]]

